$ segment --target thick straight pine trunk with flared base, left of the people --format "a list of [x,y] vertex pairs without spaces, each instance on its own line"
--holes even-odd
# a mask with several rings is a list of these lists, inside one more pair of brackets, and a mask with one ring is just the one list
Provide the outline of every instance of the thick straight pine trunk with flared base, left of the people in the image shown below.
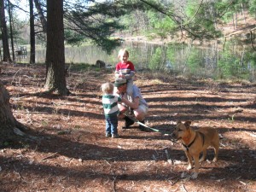
[[46,81],[44,88],[61,96],[70,92],[65,79],[63,0],[47,0]]

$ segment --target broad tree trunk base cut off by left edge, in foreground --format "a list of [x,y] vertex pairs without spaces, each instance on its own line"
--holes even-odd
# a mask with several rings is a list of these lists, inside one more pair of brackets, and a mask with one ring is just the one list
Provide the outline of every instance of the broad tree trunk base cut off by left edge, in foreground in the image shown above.
[[16,138],[17,131],[21,133],[17,128],[26,130],[26,127],[15,119],[9,105],[9,92],[0,81],[0,146],[4,141]]

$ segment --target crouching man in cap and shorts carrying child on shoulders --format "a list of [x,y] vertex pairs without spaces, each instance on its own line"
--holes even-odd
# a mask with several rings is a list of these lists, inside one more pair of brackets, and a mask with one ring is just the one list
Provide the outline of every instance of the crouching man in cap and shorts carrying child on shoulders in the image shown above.
[[[115,79],[114,86],[115,94],[119,95],[121,97],[127,98],[126,89],[127,89],[127,81],[126,79]],[[129,96],[130,97],[130,96]],[[127,116],[125,116],[125,112],[131,109],[131,113],[134,113],[134,116],[137,120],[139,120],[141,123],[145,123],[145,117],[148,113],[148,104],[143,99],[143,96],[141,94],[141,91],[137,87],[137,85],[132,85],[132,95],[131,98],[129,98],[130,101],[125,100],[125,103],[119,104],[119,118],[125,119],[125,126],[123,129],[128,129],[130,125],[134,124],[134,121],[129,119]],[[143,125],[139,125],[140,130],[145,130],[145,127]]]

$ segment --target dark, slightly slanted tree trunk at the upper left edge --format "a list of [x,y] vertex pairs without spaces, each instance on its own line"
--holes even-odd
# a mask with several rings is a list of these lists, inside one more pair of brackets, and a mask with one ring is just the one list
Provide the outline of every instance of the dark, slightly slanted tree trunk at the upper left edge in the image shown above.
[[9,54],[8,30],[4,12],[4,0],[0,0],[1,32],[3,41],[3,61],[12,61]]

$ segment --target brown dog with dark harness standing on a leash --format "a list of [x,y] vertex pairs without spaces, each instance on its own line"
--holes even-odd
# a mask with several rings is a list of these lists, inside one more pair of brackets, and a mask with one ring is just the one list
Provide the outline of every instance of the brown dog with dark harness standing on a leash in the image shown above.
[[[218,131],[212,128],[201,128],[197,131],[191,127],[191,121],[186,121],[184,124],[181,121],[177,122],[176,129],[172,132],[172,136],[177,140],[181,140],[183,144],[183,150],[189,160],[189,166],[187,170],[193,166],[192,158],[195,162],[195,172],[192,178],[198,176],[199,162],[205,160],[207,156],[207,148],[212,146],[214,148],[215,156],[213,162],[218,159],[218,146],[219,137]],[[199,155],[203,152],[201,160]]]

